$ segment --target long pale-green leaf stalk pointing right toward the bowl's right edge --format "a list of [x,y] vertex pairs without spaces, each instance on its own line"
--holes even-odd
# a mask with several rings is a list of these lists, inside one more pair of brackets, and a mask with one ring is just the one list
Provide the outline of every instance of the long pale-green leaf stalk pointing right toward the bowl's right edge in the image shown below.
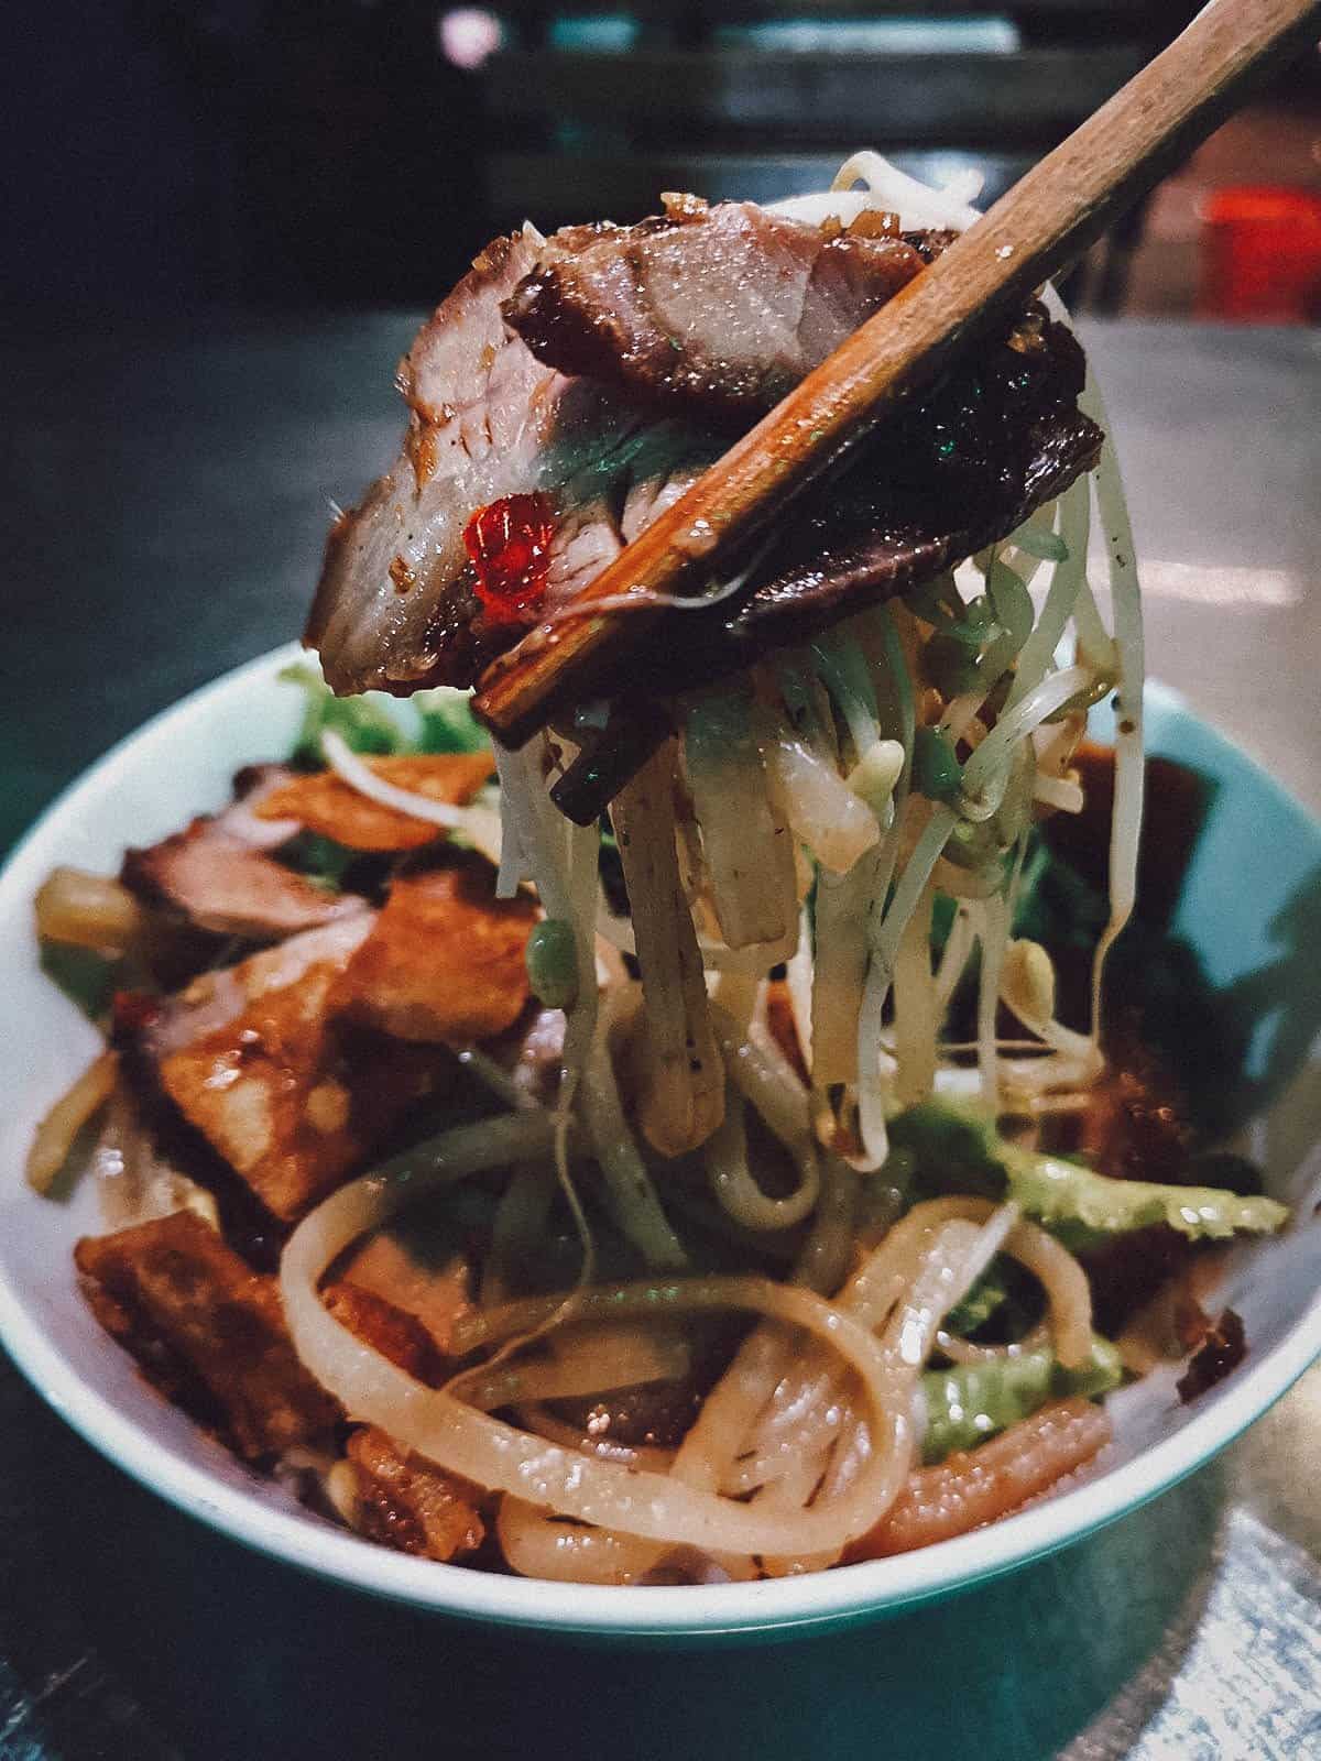
[[941,1101],[900,1113],[889,1141],[916,1157],[918,1190],[1013,1199],[1046,1227],[1125,1234],[1162,1222],[1203,1242],[1236,1231],[1270,1234],[1289,1215],[1273,1199],[1240,1197],[1224,1187],[1111,1180],[1081,1162],[1004,1143],[988,1120]]

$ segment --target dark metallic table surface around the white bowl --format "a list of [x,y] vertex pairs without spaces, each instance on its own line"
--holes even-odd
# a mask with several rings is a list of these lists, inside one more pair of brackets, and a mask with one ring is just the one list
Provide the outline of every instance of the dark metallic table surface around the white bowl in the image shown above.
[[[298,630],[389,456],[405,315],[0,342],[0,847]],[[1316,333],[1090,329],[1154,669],[1321,803]],[[0,1361],[0,1761],[1321,1756],[1321,1375],[1194,1479],[837,1638],[592,1654],[373,1604],[176,1514]]]

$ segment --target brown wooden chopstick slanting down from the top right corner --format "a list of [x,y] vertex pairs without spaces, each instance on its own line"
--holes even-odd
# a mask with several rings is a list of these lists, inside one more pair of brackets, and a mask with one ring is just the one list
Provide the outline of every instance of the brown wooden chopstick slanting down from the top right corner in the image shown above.
[[[972,338],[1092,243],[1235,106],[1321,0],[1212,0],[1108,104],[868,319],[579,595],[701,590],[754,532]],[[530,630],[479,682],[477,715],[521,745],[636,652],[662,608]],[[646,680],[664,689],[662,680]],[[645,755],[645,752],[643,752]]]

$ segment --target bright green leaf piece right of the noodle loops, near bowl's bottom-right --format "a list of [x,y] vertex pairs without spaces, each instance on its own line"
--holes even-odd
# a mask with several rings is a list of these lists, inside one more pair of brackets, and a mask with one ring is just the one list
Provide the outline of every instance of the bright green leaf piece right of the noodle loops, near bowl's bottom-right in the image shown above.
[[1048,1400],[1081,1395],[1097,1400],[1118,1388],[1124,1367],[1108,1338],[1092,1338],[1092,1356],[1066,1370],[1048,1345],[993,1363],[956,1363],[921,1379],[926,1433],[921,1458],[944,1462],[953,1449],[974,1449],[986,1437],[1030,1418]]

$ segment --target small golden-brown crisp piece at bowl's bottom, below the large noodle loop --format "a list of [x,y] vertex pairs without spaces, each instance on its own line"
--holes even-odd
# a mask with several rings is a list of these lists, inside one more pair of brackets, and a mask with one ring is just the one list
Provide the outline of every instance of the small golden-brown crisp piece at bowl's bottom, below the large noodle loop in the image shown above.
[[352,1433],[349,1462],[358,1481],[356,1527],[370,1541],[440,1560],[481,1546],[483,1492],[467,1479],[400,1449],[375,1426]]

